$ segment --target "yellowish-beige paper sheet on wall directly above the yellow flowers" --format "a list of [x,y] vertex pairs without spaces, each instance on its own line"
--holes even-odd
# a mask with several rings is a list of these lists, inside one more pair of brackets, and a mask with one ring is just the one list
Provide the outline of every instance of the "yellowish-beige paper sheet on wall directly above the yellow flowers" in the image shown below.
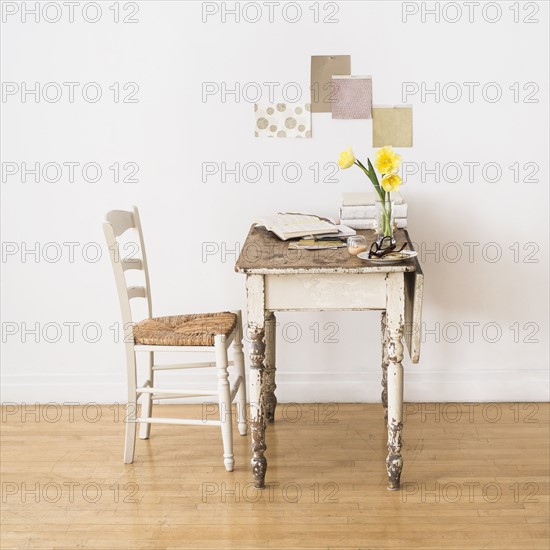
[[412,147],[412,107],[373,107],[372,145]]

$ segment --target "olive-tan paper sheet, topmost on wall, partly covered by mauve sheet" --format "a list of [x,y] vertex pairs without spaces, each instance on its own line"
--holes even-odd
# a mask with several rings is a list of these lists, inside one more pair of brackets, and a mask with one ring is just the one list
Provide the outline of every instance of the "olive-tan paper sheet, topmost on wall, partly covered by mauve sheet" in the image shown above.
[[350,55],[312,55],[311,112],[332,112],[332,76],[349,74],[351,74]]

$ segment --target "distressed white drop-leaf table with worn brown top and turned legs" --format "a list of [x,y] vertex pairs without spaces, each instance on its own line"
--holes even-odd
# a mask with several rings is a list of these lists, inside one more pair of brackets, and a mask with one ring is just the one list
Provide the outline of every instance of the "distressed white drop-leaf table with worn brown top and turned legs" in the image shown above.
[[[373,231],[359,231],[370,245]],[[410,239],[397,230],[398,246]],[[411,245],[412,249],[412,245]],[[423,274],[417,258],[373,265],[346,248],[289,250],[263,228],[252,227],[235,271],[246,274],[250,343],[250,420],[254,484],[265,487],[266,424],[273,422],[276,311],[382,311],[382,404],[388,429],[388,489],[399,489],[403,459],[403,338],[413,363],[420,353]]]

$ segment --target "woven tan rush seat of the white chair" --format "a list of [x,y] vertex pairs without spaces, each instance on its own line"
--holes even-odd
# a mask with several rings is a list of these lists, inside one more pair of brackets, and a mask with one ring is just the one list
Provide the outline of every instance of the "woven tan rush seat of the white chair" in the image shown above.
[[229,336],[237,316],[229,311],[144,319],[134,326],[134,342],[153,346],[213,346],[217,334]]

